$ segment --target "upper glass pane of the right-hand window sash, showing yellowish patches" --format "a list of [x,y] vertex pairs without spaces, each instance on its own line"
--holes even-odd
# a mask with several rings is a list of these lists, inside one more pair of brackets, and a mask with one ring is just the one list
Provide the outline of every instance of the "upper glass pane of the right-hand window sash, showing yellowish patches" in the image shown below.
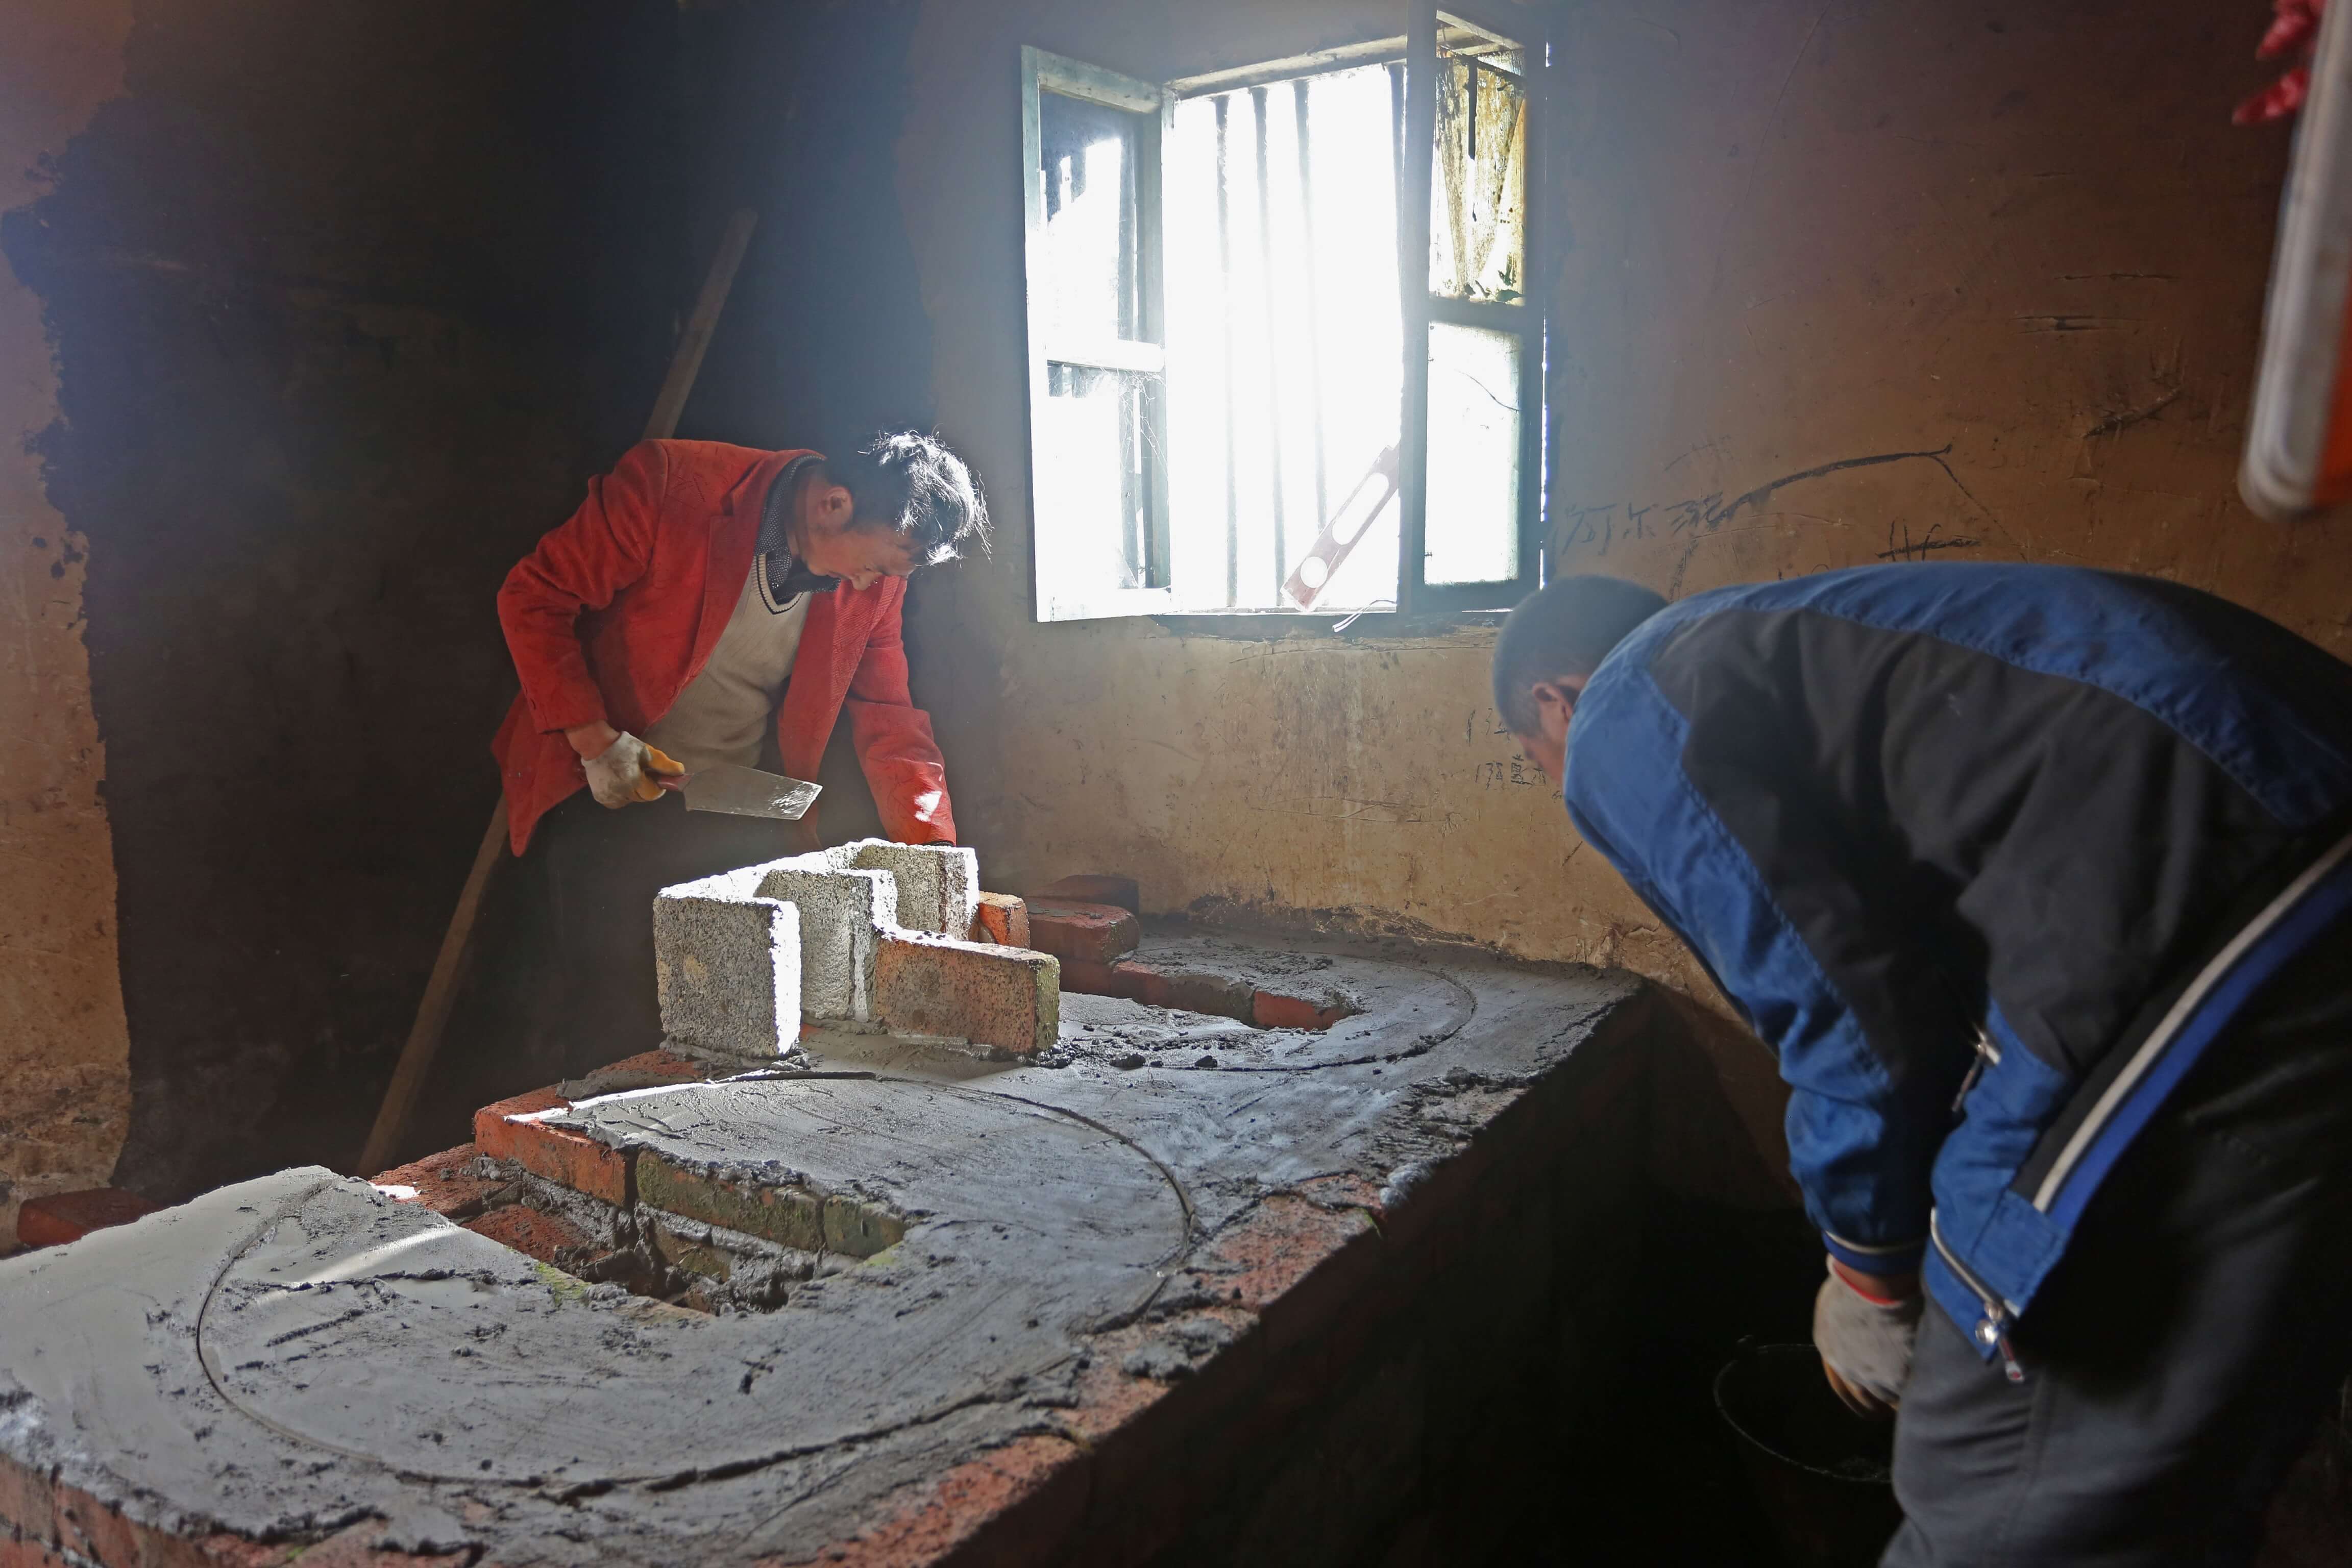
[[1526,54],[1437,28],[1430,294],[1515,306],[1526,287]]

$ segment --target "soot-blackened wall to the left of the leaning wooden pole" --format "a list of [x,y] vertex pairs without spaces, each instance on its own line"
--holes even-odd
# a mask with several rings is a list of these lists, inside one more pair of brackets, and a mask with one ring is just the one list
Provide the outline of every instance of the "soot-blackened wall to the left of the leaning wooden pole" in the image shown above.
[[492,595],[691,294],[675,61],[670,0],[146,0],[7,214],[89,536],[125,1185],[358,1154],[494,799]]

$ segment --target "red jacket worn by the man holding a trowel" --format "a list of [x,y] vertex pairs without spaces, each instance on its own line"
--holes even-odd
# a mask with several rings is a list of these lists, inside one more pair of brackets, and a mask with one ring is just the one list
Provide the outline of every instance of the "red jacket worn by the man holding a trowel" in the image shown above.
[[[539,818],[588,785],[567,729],[604,719],[642,736],[701,675],[750,576],[767,487],[797,456],[640,442],[506,574],[499,625],[522,696],[492,752],[517,856]],[[882,827],[906,844],[950,844],[948,764],[906,689],[903,602],[906,578],[816,595],[776,743],[786,773],[816,778],[847,703]]]

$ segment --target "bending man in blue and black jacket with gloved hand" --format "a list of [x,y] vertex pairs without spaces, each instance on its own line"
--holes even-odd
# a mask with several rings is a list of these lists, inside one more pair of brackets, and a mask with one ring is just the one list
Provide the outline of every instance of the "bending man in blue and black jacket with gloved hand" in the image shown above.
[[1564,578],[1494,691],[1795,1088],[1884,1561],[2251,1561],[2352,1363],[2352,668],[1938,564]]

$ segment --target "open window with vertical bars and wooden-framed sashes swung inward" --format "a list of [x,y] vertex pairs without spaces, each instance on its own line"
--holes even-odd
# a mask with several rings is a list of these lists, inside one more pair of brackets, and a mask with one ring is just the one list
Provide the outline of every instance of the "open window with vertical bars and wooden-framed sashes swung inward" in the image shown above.
[[1524,24],[1169,85],[1023,52],[1040,621],[1536,588]]

